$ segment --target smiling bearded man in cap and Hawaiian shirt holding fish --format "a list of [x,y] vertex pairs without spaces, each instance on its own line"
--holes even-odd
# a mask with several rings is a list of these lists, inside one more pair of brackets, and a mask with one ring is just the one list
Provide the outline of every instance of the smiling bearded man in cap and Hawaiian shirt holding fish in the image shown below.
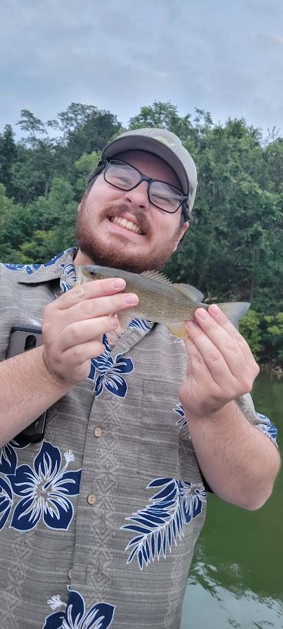
[[0,370],[5,629],[177,629],[207,488],[247,509],[271,494],[280,458],[249,396],[258,366],[222,312],[198,309],[176,342],[153,322],[119,329],[115,313],[138,303],[125,281],[74,286],[85,264],[162,267],[196,185],[174,134],[127,132],[90,179],[78,250],[1,265],[1,357],[13,324],[43,321],[43,345]]

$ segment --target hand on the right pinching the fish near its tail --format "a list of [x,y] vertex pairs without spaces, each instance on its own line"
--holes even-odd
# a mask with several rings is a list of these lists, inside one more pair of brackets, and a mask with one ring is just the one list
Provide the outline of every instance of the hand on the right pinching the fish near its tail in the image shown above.
[[187,321],[187,379],[180,402],[190,417],[204,417],[250,392],[260,369],[251,350],[218,306],[198,308]]

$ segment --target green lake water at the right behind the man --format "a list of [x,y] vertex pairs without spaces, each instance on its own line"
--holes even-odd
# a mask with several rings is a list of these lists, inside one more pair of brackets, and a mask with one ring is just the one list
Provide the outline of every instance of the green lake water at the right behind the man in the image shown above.
[[[279,430],[283,455],[283,380],[260,375],[253,401]],[[258,511],[208,497],[181,629],[283,628],[283,472]]]

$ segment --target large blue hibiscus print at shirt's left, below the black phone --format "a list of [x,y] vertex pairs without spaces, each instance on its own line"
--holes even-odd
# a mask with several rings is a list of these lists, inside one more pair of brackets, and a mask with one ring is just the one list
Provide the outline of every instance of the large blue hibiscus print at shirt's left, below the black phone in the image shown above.
[[48,528],[69,528],[74,508],[68,497],[78,495],[81,470],[67,470],[74,461],[71,451],[64,457],[65,466],[61,468],[59,448],[43,441],[33,468],[21,465],[14,475],[8,475],[14,495],[21,497],[12,515],[12,528],[31,530],[41,519]]

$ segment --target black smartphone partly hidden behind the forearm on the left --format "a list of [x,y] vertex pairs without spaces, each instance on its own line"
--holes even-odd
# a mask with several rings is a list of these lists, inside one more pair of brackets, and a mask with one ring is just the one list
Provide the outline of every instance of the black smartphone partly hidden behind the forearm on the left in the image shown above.
[[[28,350],[32,350],[42,345],[42,343],[42,330],[39,326],[12,326],[6,358],[28,352]],[[37,419],[34,419],[30,426],[22,430],[17,437],[25,443],[37,443],[38,441],[42,441],[45,431],[46,415],[47,410],[37,417]],[[15,439],[17,439],[17,437],[15,437]]]

